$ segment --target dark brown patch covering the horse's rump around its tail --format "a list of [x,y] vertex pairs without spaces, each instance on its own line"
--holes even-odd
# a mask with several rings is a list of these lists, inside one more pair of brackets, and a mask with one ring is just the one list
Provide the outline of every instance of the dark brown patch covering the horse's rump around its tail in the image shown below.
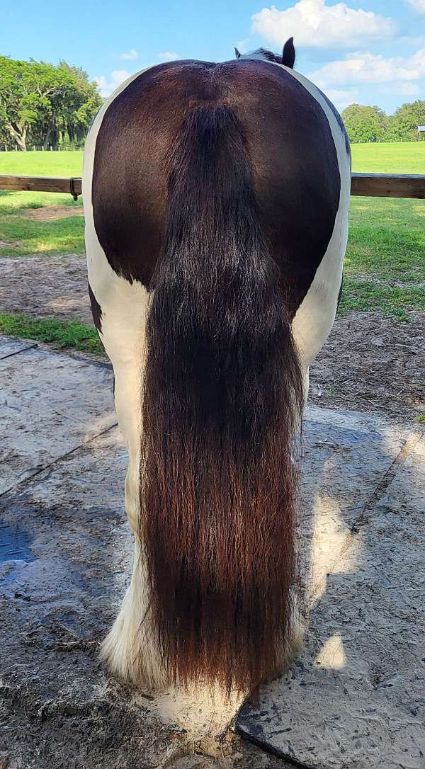
[[323,109],[284,68],[243,58],[169,62],[130,83],[106,111],[96,141],[99,242],[119,275],[149,287],[166,228],[166,158],[183,120],[206,103],[226,103],[243,126],[259,221],[292,318],[333,232],[340,173]]

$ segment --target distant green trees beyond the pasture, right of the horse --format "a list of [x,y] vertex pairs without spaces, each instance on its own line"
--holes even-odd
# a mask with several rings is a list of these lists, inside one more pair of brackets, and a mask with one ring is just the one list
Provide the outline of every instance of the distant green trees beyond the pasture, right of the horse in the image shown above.
[[403,104],[393,115],[379,107],[350,104],[341,117],[350,141],[416,141],[418,125],[425,125],[425,102]]

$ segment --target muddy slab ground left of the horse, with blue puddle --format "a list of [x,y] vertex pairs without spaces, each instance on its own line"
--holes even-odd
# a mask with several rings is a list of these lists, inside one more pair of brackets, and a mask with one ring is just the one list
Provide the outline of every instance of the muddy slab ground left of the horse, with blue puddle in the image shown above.
[[0,769],[283,769],[236,736],[232,755],[193,754],[149,694],[105,671],[133,551],[112,372],[4,338],[0,358]]

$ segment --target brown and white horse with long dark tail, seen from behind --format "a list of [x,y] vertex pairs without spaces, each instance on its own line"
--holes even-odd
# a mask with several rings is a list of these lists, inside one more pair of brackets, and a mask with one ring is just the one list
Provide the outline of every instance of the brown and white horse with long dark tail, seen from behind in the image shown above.
[[139,72],[85,148],[136,544],[102,654],[151,689],[248,693],[299,641],[294,443],[339,301],[350,148],[293,56]]

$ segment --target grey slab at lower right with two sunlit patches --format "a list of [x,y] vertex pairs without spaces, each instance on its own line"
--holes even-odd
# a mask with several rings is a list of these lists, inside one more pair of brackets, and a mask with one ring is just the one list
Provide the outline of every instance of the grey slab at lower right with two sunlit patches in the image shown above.
[[350,528],[320,492],[306,648],[237,724],[274,754],[315,769],[425,767],[424,459],[411,436]]

